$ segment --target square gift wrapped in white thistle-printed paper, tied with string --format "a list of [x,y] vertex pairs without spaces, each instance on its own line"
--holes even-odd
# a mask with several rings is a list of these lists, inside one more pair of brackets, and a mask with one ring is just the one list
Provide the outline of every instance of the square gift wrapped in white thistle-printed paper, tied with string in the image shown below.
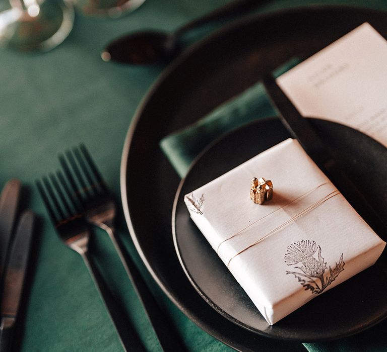
[[293,139],[184,201],[271,325],[373,265],[385,246]]

